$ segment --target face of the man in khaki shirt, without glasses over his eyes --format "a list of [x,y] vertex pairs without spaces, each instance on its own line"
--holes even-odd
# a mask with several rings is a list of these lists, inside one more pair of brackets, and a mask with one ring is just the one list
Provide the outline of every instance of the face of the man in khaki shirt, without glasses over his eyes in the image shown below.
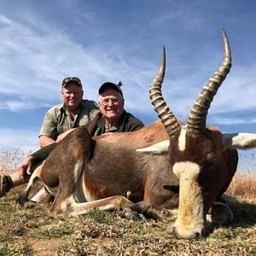
[[69,82],[62,88],[61,94],[66,107],[70,110],[76,110],[82,101],[84,91],[78,84]]

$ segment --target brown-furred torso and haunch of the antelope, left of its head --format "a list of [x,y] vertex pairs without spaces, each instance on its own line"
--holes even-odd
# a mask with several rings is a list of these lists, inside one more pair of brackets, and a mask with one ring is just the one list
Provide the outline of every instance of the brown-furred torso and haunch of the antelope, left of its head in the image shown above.
[[39,175],[49,189],[59,186],[53,211],[70,212],[61,202],[74,194],[77,181],[73,170],[79,161],[83,162],[80,172],[84,173],[87,193],[96,200],[126,196],[129,191],[132,202],[145,201],[159,209],[177,207],[177,190],[164,189],[165,185],[178,185],[168,156],[136,152],[166,138],[160,121],[139,131],[93,138],[84,128],[71,132],[49,154]]

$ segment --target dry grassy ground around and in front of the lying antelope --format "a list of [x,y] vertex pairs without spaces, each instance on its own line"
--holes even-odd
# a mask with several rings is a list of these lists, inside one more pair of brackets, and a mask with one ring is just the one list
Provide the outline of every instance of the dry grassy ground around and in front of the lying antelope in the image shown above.
[[[13,172],[16,155],[1,154],[3,171]],[[249,172],[250,171],[250,172]],[[55,216],[42,204],[15,204],[24,188],[0,199],[2,255],[256,255],[256,193],[253,170],[239,172],[230,185],[238,198],[234,220],[204,239],[177,240],[172,220],[129,221],[122,212],[93,210],[79,218]]]

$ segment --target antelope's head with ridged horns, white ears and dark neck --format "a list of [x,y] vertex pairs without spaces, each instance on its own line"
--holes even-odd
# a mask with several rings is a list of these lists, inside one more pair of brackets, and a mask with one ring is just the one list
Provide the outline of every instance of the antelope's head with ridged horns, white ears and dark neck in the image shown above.
[[226,75],[230,72],[231,53],[224,38],[224,61],[203,87],[189,113],[187,125],[180,125],[161,93],[165,69],[150,87],[154,110],[166,127],[169,140],[137,151],[161,154],[168,152],[172,172],[179,179],[179,205],[174,231],[178,238],[201,236],[206,214],[213,201],[228,188],[236,172],[236,149],[255,147],[255,134],[223,134],[206,125],[207,112]]

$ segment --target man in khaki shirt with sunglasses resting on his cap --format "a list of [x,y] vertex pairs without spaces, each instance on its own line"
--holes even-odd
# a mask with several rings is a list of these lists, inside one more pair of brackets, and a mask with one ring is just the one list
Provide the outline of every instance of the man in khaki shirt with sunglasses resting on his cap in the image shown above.
[[39,143],[42,149],[35,153],[36,161],[32,160],[33,154],[29,155],[21,161],[17,172],[10,176],[0,176],[0,197],[12,187],[26,183],[29,177],[27,174],[48,156],[49,152],[55,148],[56,141],[60,141],[73,128],[88,127],[90,121],[96,117],[97,113],[100,113],[96,102],[82,99],[83,86],[77,77],[62,80],[61,95],[63,102],[50,108],[44,115],[39,132]]

